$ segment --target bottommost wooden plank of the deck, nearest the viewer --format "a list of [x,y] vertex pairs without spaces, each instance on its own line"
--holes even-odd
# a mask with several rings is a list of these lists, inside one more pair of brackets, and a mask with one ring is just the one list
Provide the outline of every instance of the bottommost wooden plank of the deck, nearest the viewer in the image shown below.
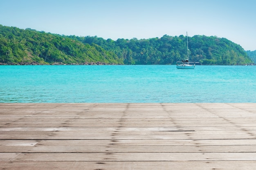
[[6,170],[255,170],[256,161],[14,161]]

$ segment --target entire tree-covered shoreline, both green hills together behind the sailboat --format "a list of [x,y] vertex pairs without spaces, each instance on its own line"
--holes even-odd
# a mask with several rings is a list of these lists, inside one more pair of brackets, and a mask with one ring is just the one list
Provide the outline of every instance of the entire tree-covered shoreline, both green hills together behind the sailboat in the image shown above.
[[[226,38],[189,37],[190,59],[204,65],[252,64],[243,48]],[[2,64],[175,64],[186,59],[186,37],[116,41],[0,25]]]

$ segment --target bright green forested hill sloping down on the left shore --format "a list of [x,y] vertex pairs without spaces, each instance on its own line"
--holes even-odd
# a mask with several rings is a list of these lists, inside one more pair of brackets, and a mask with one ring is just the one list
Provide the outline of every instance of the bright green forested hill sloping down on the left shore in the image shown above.
[[123,63],[97,44],[83,44],[61,35],[0,25],[0,62],[6,64]]

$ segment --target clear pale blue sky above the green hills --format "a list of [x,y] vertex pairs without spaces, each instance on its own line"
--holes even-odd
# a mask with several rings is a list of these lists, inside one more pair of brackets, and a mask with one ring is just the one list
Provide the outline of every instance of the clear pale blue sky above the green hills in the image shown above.
[[0,24],[112,40],[187,31],[256,50],[256,0],[0,0]]

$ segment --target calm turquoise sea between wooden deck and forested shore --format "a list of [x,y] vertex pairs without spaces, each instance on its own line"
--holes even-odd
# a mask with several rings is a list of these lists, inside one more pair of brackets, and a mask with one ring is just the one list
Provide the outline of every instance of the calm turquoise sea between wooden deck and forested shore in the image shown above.
[[256,66],[0,66],[0,102],[256,102]]

